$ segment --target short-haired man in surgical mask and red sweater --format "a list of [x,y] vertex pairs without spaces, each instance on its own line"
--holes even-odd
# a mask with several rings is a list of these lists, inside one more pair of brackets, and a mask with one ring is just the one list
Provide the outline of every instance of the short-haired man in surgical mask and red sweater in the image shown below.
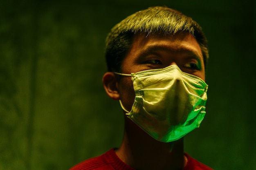
[[205,115],[207,58],[200,26],[173,9],[151,7],[117,24],[103,85],[124,110],[124,139],[71,170],[211,170],[183,150]]

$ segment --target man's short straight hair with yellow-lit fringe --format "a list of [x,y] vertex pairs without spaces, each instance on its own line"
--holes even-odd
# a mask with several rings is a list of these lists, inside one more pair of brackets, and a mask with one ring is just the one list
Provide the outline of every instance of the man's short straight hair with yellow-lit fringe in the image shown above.
[[146,36],[154,33],[174,35],[178,32],[187,32],[195,37],[206,66],[209,57],[207,40],[199,24],[174,9],[150,7],[128,16],[111,29],[106,39],[105,49],[108,71],[121,71],[124,57],[128,54],[136,35],[141,33]]

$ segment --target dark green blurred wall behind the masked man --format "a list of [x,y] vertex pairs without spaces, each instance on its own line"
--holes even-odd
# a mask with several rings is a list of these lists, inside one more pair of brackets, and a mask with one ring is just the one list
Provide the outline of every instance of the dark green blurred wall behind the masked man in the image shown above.
[[185,151],[215,170],[256,169],[254,0],[0,0],[0,170],[67,170],[119,147],[104,41],[156,5],[191,16],[209,41],[207,115]]

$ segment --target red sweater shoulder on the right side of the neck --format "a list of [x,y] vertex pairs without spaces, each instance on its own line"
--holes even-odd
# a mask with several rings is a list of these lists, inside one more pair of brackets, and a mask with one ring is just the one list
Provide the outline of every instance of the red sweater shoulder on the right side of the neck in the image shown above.
[[185,153],[185,155],[188,158],[188,163],[183,170],[213,170],[209,166],[206,166],[203,163],[197,161],[196,159],[190,157],[187,153]]

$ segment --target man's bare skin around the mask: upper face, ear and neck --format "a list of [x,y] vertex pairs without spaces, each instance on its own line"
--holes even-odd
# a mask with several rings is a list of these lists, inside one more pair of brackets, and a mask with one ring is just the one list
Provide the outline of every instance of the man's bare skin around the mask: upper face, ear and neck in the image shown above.
[[[165,68],[172,64],[205,80],[202,51],[195,38],[188,33],[137,35],[124,58],[122,73]],[[103,85],[112,99],[121,100],[124,108],[131,110],[135,99],[131,77],[107,72],[103,76]],[[186,165],[183,138],[169,143],[157,141],[126,116],[124,139],[116,153],[122,161],[137,170],[181,170]]]

